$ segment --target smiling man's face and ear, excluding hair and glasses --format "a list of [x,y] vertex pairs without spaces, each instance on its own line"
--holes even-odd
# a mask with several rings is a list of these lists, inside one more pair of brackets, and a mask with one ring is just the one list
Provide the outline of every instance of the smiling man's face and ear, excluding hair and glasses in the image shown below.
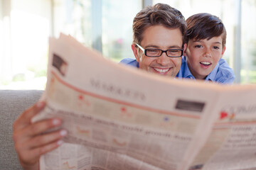
[[[144,49],[182,49],[181,30],[160,25],[150,26],[144,30],[140,46]],[[186,45],[184,46],[186,48]],[[168,57],[165,52],[160,57],[147,57],[142,50],[138,51],[135,45],[132,45],[132,50],[137,62],[139,62],[139,69],[144,69],[147,72],[176,77],[181,68],[181,57]]]

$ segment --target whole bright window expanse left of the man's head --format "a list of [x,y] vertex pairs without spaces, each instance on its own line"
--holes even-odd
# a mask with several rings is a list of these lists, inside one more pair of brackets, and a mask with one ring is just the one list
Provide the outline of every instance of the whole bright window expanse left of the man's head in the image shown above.
[[48,37],[70,34],[119,62],[133,57],[142,1],[0,0],[0,89],[44,89]]

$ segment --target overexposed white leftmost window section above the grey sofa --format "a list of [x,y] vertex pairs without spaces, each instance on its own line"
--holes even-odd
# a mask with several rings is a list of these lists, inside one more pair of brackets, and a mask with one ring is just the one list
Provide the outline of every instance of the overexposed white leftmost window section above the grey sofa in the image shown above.
[[0,2],[1,89],[44,89],[50,1]]

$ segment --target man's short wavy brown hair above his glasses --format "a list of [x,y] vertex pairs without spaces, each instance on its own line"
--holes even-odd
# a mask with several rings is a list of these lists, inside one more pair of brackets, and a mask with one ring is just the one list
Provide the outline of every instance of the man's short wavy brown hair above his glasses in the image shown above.
[[146,6],[139,11],[134,18],[133,43],[140,44],[143,39],[143,33],[149,26],[161,25],[166,28],[179,28],[181,30],[182,41],[186,35],[186,21],[180,11],[172,8],[167,4],[155,4],[154,6]]

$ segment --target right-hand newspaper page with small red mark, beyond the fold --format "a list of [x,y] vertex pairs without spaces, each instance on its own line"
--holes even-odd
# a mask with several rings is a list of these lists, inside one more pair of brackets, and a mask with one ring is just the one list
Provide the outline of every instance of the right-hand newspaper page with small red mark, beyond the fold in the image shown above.
[[[256,86],[223,87],[220,110],[190,169],[256,169]],[[203,129],[201,130],[203,131]]]

